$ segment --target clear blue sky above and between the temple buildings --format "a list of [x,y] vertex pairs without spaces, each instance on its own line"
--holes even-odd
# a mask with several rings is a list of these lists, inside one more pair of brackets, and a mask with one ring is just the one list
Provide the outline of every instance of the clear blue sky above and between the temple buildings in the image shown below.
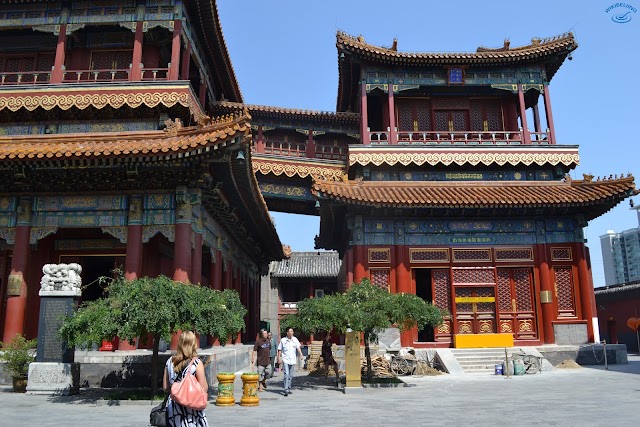
[[[380,46],[397,37],[400,51],[413,52],[473,52],[502,46],[505,38],[516,47],[573,31],[579,47],[550,84],[557,141],[580,146],[580,166],[571,175],[631,172],[640,186],[634,148],[640,144],[640,10],[615,23],[612,14],[629,10],[606,12],[614,3],[219,0],[218,9],[246,103],[324,111],[336,108],[338,30]],[[640,0],[628,4],[640,9]],[[272,215],[283,243],[314,250],[317,217]],[[599,237],[635,227],[628,201],[589,223],[596,286],[604,285]]]

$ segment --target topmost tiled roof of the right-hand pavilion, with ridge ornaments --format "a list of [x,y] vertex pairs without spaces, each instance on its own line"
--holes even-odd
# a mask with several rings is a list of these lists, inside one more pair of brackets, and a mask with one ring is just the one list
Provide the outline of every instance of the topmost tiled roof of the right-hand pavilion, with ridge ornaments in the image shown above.
[[338,31],[336,38],[338,48],[340,48],[340,44],[344,44],[355,49],[384,54],[389,57],[411,59],[501,59],[514,56],[508,55],[508,53],[516,53],[517,56],[524,56],[532,53],[546,52],[552,48],[568,47],[570,48],[569,51],[572,51],[578,47],[575,37],[571,32],[544,39],[536,37],[531,39],[531,44],[515,48],[511,48],[507,40],[505,41],[505,46],[502,48],[486,48],[481,46],[477,48],[476,52],[400,52],[397,50],[395,43],[394,47],[391,48],[376,46],[367,43],[362,35],[352,36],[343,31]]

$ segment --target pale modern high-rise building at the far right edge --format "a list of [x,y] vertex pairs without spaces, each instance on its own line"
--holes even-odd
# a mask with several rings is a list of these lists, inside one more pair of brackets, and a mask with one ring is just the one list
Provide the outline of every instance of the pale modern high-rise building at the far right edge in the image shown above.
[[600,236],[604,281],[607,286],[640,280],[640,206],[638,227],[616,233],[613,230]]

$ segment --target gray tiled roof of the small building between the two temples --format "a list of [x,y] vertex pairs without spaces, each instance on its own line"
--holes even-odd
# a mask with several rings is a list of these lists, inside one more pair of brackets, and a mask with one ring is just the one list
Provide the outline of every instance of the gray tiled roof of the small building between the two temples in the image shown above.
[[273,264],[273,277],[337,278],[342,261],[337,252],[292,252],[291,258]]

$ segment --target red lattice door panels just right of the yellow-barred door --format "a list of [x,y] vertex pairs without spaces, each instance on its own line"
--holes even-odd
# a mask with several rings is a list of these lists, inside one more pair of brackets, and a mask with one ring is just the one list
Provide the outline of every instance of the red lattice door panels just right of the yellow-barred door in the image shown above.
[[533,280],[530,268],[499,268],[499,330],[515,339],[537,339]]

